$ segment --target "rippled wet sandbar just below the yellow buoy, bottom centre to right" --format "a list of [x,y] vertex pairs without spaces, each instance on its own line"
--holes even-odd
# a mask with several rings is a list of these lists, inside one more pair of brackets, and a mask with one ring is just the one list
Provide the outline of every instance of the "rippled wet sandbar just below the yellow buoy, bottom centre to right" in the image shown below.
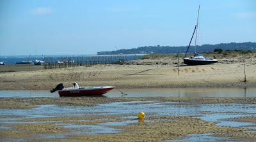
[[[124,132],[118,134],[72,136],[65,141],[164,141],[180,136],[200,133],[243,132],[243,128],[218,127],[214,122],[205,122],[192,117],[159,117],[156,122],[129,124],[120,127]],[[170,129],[172,128],[172,129]],[[154,130],[154,131],[153,131]]]

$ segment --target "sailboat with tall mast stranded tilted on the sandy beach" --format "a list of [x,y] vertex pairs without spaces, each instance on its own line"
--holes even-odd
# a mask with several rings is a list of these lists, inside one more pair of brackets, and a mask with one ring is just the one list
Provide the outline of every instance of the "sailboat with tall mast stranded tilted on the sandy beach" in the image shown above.
[[[200,5],[199,5],[199,8],[198,8],[197,21],[196,21],[195,29],[193,31],[193,35],[192,35],[192,37],[190,39],[187,51],[186,51],[184,59],[183,59],[184,60],[184,64],[187,64],[187,65],[204,65],[204,64],[213,64],[215,62],[218,62],[218,60],[215,59],[215,58],[214,59],[207,58],[207,57],[204,57],[204,55],[201,55],[200,53],[196,52],[196,38],[197,38],[199,11],[200,11]],[[196,32],[196,34],[195,34],[195,32]],[[191,45],[191,41],[193,39],[194,34],[195,34],[195,53],[191,57],[186,57],[186,55],[188,53],[188,50],[189,50],[189,46]]]

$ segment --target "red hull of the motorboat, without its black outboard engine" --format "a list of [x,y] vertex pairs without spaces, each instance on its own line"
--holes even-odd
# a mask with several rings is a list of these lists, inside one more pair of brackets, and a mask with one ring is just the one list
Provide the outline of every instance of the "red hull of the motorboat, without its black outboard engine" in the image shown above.
[[101,96],[107,93],[109,90],[115,87],[104,87],[99,89],[69,89],[69,90],[59,90],[59,95],[61,97],[65,96]]

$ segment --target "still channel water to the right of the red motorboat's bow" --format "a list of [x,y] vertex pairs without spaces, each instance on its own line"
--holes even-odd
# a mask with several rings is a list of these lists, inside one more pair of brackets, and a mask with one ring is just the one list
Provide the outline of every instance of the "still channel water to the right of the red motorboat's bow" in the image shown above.
[[[256,87],[229,88],[170,88],[170,89],[123,89],[125,97],[256,97]],[[106,94],[118,97],[118,91]]]

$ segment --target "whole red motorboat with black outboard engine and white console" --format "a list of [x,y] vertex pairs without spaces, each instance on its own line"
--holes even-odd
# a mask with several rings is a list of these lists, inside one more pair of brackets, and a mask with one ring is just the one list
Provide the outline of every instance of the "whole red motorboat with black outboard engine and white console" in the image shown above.
[[100,96],[107,93],[109,90],[114,89],[112,86],[92,86],[92,87],[79,87],[75,82],[73,83],[74,87],[63,87],[63,84],[60,83],[56,86],[55,89],[52,89],[51,92],[58,90],[61,97],[63,96]]

